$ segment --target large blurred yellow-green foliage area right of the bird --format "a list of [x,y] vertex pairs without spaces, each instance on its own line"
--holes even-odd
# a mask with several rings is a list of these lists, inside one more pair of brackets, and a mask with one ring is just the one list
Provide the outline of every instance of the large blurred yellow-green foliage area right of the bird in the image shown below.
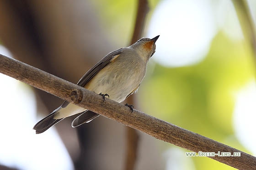
[[[246,152],[235,138],[232,116],[235,93],[254,76],[252,63],[244,41],[230,41],[219,32],[203,62],[175,68],[155,65],[139,88],[143,111]],[[205,157],[192,159],[198,170],[228,168]]]

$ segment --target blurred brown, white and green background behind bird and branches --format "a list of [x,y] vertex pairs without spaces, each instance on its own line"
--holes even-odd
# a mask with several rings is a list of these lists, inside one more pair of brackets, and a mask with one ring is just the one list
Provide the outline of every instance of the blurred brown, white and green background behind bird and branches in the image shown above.
[[[0,53],[76,83],[128,46],[137,0],[1,0]],[[256,155],[256,1],[149,0],[143,36],[155,55],[134,107]],[[0,74],[0,170],[125,169],[125,126],[66,118],[32,130],[62,100]],[[232,170],[139,132],[134,170]]]

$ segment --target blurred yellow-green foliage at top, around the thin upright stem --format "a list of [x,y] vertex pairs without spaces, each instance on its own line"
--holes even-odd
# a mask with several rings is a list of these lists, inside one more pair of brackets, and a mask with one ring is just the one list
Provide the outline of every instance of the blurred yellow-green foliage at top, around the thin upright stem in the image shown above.
[[[160,0],[149,0],[149,14]],[[131,40],[135,17],[137,12],[137,0],[91,0],[101,20],[103,30],[109,35],[109,39],[120,44],[127,44]],[[147,16],[147,19],[150,15]],[[114,35],[114,36],[113,36]]]

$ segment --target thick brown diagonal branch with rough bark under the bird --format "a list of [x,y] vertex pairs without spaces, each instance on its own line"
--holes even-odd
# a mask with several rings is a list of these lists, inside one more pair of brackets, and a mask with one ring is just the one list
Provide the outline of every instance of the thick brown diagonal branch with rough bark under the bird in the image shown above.
[[213,139],[206,138],[200,134],[182,129],[138,110],[134,109],[133,113],[131,113],[130,108],[127,106],[108,98],[103,102],[101,95],[15,59],[0,55],[0,72],[80,107],[149,134],[156,139],[175,144],[185,149],[197,153],[198,151],[215,153],[219,151],[230,152],[231,154],[240,152],[240,157],[213,156],[209,158],[240,170],[256,169],[256,157],[252,155]]

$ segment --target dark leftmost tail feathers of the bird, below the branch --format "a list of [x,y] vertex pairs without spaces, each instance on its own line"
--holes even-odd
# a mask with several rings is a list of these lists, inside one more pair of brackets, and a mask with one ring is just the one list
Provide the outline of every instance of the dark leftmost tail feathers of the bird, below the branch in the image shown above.
[[36,134],[41,134],[50,127],[52,127],[54,124],[57,124],[59,121],[63,120],[64,118],[60,119],[54,119],[55,113],[57,113],[61,107],[55,109],[52,113],[50,113],[47,117],[43,118],[35,126],[33,127],[34,130],[36,130]]

